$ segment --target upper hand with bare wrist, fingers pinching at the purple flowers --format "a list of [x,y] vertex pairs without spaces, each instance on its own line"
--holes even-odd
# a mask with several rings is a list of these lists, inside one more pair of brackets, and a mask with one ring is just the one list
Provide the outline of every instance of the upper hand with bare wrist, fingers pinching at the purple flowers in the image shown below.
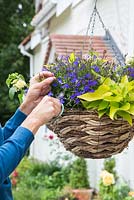
[[31,78],[28,93],[20,106],[20,110],[28,115],[48,94],[51,90],[50,85],[55,79],[54,74],[49,71],[41,72]]

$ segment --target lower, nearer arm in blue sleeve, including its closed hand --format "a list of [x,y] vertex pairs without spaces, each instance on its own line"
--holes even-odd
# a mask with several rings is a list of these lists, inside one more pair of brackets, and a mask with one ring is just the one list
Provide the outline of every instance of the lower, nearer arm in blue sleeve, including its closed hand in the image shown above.
[[0,184],[16,168],[39,127],[58,116],[60,111],[59,100],[45,96],[13,135],[4,141],[0,147]]

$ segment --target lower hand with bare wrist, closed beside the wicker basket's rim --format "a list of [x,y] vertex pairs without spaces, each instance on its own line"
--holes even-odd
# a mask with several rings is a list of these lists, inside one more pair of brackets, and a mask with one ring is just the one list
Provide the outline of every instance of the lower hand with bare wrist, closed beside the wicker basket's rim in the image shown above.
[[29,129],[35,134],[40,126],[57,117],[61,112],[61,103],[58,99],[45,96],[33,109],[21,126]]

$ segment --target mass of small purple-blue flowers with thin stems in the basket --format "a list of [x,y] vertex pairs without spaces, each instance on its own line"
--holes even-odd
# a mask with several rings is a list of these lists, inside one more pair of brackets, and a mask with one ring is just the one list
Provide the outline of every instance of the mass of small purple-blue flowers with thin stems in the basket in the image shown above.
[[75,53],[71,53],[70,56],[59,56],[55,63],[45,65],[44,70],[50,70],[57,78],[52,84],[51,95],[65,103],[65,108],[81,109],[82,105],[77,96],[98,88],[102,75],[113,77],[115,72],[107,72],[111,72],[113,67],[114,63],[90,51],[85,57]]

